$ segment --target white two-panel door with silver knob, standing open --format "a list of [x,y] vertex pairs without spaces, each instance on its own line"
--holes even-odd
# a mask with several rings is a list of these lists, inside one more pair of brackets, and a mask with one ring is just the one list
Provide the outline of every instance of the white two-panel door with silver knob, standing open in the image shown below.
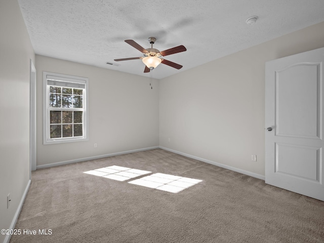
[[265,183],[324,200],[324,48],[265,65]]

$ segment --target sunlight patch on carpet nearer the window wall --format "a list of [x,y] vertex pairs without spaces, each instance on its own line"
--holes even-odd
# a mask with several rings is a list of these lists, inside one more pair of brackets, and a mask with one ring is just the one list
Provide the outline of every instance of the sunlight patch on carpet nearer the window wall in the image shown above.
[[126,181],[138,176],[149,174],[151,172],[121,166],[109,166],[92,171],[86,171],[84,173],[116,181]]

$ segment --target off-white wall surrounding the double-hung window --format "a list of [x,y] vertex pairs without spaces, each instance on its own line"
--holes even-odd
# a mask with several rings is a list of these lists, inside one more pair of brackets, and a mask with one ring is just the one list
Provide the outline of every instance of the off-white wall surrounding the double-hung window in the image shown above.
[[[156,79],[151,90],[149,78],[139,75],[39,55],[35,66],[38,168],[158,146]],[[43,71],[89,78],[89,141],[43,145]]]

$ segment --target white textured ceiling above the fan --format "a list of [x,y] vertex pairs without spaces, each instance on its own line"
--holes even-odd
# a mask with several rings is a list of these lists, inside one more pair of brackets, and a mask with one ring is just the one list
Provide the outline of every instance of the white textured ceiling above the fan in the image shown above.
[[[186,52],[166,57],[183,68],[160,64],[152,71],[158,79],[324,21],[323,0],[18,2],[39,55],[149,76],[141,60],[114,61],[143,56],[125,39],[147,49],[147,38],[154,36],[159,51],[184,45]],[[254,15],[258,21],[247,25]]]

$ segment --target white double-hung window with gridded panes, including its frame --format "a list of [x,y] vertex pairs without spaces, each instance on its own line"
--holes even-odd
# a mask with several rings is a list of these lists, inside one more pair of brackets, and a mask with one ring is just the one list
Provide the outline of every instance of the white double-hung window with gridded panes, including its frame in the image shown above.
[[43,72],[44,144],[88,140],[88,78]]

